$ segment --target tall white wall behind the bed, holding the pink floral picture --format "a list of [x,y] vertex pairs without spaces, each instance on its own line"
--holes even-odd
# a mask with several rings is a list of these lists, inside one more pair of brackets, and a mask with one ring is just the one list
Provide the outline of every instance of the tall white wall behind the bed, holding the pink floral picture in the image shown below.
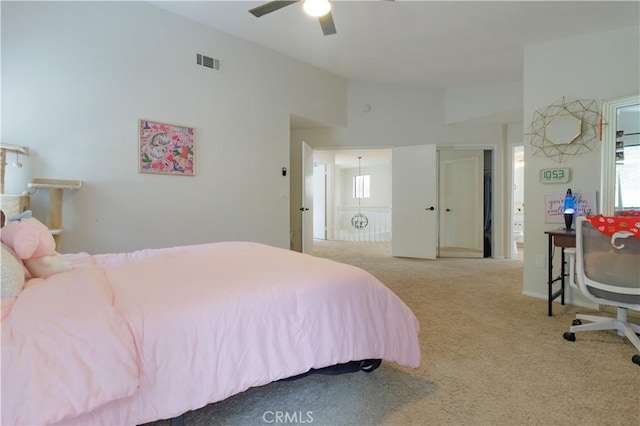
[[[344,79],[145,2],[3,2],[2,56],[2,141],[31,149],[7,192],[83,181],[65,193],[63,252],[288,248],[289,115],[347,120]],[[138,173],[141,118],[196,129],[195,177]],[[46,191],[32,202],[44,220]]]

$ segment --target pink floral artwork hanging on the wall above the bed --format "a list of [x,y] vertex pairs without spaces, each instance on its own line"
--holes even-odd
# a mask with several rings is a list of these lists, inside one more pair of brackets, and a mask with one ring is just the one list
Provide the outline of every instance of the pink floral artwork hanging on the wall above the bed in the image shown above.
[[195,176],[195,130],[140,120],[140,173]]

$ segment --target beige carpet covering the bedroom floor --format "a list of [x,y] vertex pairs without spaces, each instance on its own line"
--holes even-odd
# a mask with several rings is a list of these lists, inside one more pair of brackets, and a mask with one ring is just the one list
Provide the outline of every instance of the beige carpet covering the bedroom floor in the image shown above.
[[565,341],[587,310],[556,304],[548,317],[545,300],[522,295],[521,260],[390,253],[328,241],[313,252],[362,267],[405,301],[421,324],[419,368],[271,383],[186,413],[186,426],[640,425],[635,348],[615,331]]

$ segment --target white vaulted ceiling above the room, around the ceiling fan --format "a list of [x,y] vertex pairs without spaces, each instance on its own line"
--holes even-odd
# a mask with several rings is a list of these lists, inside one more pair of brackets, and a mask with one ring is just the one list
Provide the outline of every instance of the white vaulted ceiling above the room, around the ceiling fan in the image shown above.
[[441,89],[520,82],[526,44],[640,22],[638,1],[334,0],[324,36],[302,2],[260,18],[266,2],[152,3],[346,78]]

